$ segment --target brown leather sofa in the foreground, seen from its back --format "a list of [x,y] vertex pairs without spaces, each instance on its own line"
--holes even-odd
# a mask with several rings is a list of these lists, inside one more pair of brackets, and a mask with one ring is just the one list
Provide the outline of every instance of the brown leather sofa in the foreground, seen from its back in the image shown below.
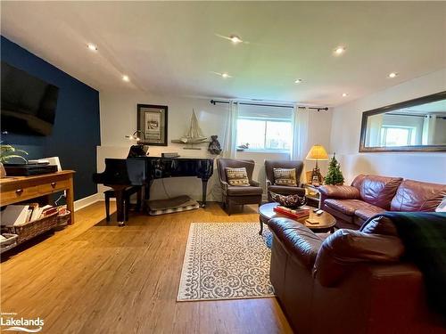
[[404,246],[390,220],[323,240],[286,218],[273,232],[270,279],[296,333],[444,333],[426,305],[422,273],[400,260]]

